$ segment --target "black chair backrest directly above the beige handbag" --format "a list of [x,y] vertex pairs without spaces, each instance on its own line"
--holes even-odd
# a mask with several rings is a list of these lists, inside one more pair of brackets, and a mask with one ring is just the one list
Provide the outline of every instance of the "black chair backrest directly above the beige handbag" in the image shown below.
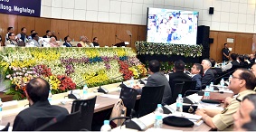
[[130,116],[131,110],[134,109],[137,100],[137,90],[123,87],[120,92],[120,99],[123,100],[127,108],[127,116]]

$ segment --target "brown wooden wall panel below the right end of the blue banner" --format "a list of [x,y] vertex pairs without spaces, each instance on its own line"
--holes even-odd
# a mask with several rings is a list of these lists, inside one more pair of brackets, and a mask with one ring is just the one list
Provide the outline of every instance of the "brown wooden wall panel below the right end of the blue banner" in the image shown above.
[[45,35],[47,30],[51,30],[51,19],[35,18],[34,30],[39,36]]

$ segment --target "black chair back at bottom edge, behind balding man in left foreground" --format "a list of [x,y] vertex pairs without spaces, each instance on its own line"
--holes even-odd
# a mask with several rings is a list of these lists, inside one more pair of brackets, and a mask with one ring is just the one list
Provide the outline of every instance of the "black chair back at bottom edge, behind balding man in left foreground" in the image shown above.
[[[81,111],[77,111],[67,115],[62,121],[56,122],[48,127],[39,127],[37,130],[42,131],[79,131],[81,130],[79,127],[79,118],[81,116]],[[47,121],[48,120],[48,121]],[[52,118],[50,119],[52,120]],[[38,118],[37,125],[42,124],[42,122],[50,121],[49,118]],[[46,123],[46,124],[47,124]]]

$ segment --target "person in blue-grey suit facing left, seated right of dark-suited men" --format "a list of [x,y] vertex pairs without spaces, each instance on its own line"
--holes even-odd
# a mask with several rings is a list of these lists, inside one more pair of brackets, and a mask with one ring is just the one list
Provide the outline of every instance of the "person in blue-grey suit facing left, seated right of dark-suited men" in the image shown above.
[[195,90],[201,90],[202,88],[202,75],[203,75],[203,66],[200,63],[194,63],[191,68],[191,74],[193,74],[192,80],[196,80]]

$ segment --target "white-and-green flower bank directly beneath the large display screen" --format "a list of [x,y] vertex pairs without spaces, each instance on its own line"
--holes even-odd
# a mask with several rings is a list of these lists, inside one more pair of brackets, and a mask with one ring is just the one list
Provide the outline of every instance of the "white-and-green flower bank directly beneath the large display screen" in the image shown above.
[[181,55],[185,57],[202,56],[202,45],[185,45],[172,43],[136,42],[138,55]]

